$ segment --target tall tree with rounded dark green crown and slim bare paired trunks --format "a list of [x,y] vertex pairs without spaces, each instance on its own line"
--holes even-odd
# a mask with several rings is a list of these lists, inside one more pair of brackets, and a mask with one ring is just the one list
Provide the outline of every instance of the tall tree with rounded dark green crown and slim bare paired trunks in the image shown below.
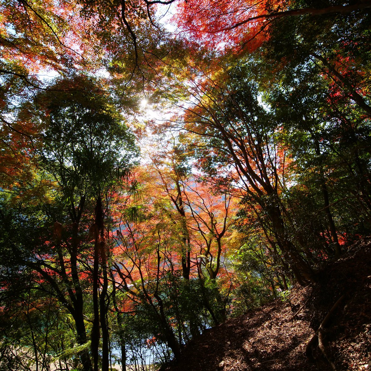
[[[95,92],[97,93],[97,92]],[[87,197],[95,202],[95,220],[91,227],[95,245],[93,257],[93,327],[92,354],[94,369],[98,370],[99,325],[102,329],[102,367],[108,370],[108,272],[107,252],[104,236],[103,197],[109,197],[117,180],[128,176],[130,159],[136,152],[134,138],[120,122],[120,116],[104,98],[92,100],[91,96],[75,95],[68,100],[58,97],[48,106],[49,128],[46,133],[46,158],[55,161],[53,171],[70,203],[74,223],[84,210]],[[90,101],[90,102],[89,102]],[[60,146],[62,144],[62,146]],[[123,152],[124,145],[126,147]],[[80,194],[76,214],[74,197]],[[108,209],[106,209],[108,210]],[[77,246],[76,246],[77,247]],[[102,269],[103,284],[99,290],[99,266]],[[98,305],[99,300],[99,305]]]

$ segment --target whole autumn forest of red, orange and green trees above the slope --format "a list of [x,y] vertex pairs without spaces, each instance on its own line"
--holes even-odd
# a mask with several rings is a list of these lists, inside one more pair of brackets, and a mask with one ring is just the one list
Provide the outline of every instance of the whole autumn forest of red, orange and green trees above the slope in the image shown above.
[[0,14],[1,371],[164,370],[370,236],[370,0]]

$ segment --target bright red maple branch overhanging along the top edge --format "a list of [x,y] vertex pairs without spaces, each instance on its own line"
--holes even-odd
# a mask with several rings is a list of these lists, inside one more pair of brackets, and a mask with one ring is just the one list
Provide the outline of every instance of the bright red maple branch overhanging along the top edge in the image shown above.
[[369,1],[198,1],[181,2],[174,17],[183,32],[209,47],[239,53],[255,51],[269,38],[271,24],[287,17],[333,16],[359,12]]

